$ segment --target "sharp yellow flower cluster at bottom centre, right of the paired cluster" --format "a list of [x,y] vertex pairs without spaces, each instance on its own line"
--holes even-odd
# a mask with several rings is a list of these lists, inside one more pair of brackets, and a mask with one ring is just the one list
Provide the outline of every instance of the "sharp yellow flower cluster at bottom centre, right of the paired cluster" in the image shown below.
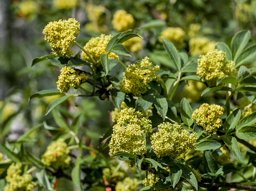
[[194,142],[197,140],[197,133],[188,135],[178,124],[164,122],[158,125],[158,131],[151,135],[152,149],[157,156],[178,157],[188,150],[196,149]]

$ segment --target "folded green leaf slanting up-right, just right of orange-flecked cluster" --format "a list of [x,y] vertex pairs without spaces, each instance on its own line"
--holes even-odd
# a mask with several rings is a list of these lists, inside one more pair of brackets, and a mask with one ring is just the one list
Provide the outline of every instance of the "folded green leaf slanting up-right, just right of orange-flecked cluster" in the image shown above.
[[230,133],[233,129],[235,129],[237,122],[240,120],[240,116],[240,108],[233,110],[233,112],[230,113],[229,116],[227,116],[226,121],[223,124],[223,130],[226,134]]

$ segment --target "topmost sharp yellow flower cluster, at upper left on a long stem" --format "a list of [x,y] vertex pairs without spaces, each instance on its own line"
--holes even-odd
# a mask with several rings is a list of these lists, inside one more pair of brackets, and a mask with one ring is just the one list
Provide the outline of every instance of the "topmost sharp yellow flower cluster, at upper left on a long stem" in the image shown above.
[[56,56],[70,57],[74,54],[71,51],[70,44],[75,42],[79,29],[80,23],[74,18],[49,22],[43,30],[44,39],[50,43]]

